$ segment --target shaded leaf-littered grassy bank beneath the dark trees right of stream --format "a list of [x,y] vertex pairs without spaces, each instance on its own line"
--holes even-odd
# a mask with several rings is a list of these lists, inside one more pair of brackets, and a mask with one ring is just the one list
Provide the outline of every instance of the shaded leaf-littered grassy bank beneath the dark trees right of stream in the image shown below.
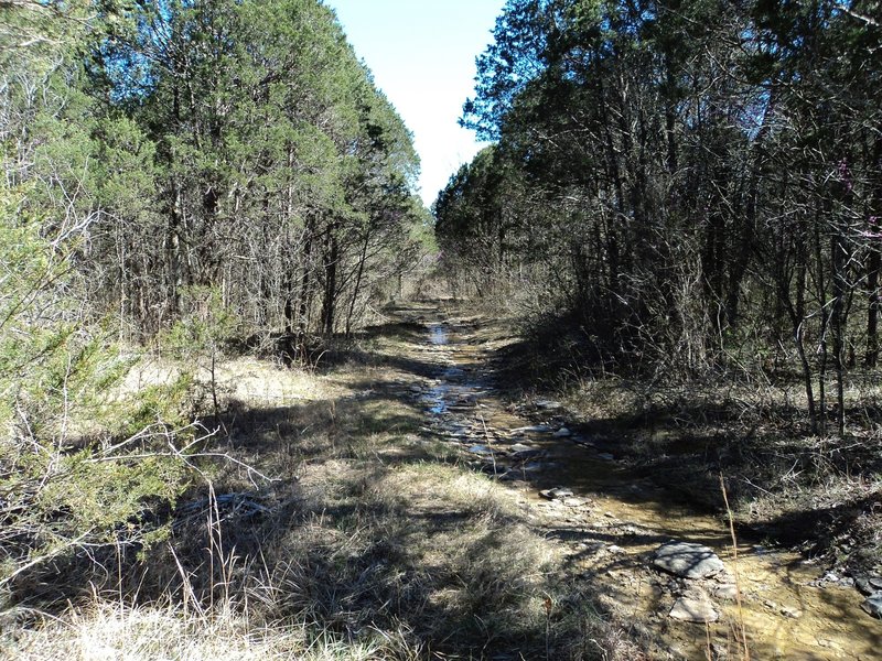
[[798,383],[607,377],[574,379],[562,399],[601,444],[691,503],[720,511],[723,472],[738,524],[862,573],[882,567],[882,409],[876,389],[851,386],[845,438],[810,433]]

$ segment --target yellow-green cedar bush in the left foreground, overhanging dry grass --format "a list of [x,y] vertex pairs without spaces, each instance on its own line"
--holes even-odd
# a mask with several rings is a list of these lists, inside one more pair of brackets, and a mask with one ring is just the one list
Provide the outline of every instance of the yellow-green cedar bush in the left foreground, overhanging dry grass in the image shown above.
[[[132,361],[74,316],[72,245],[41,236],[28,193],[0,188],[0,584],[84,545],[155,537],[144,514],[189,475],[169,445],[183,421],[161,418],[168,389],[161,405],[107,398]],[[132,407],[151,418],[127,418]]]

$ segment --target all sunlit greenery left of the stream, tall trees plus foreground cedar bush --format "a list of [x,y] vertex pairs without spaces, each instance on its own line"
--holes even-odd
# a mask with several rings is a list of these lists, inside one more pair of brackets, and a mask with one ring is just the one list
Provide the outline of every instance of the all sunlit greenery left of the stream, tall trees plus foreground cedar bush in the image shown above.
[[[218,347],[351,333],[427,224],[411,136],[319,0],[0,0],[0,164],[6,607],[50,560],[166,539]],[[155,338],[180,378],[126,391]]]

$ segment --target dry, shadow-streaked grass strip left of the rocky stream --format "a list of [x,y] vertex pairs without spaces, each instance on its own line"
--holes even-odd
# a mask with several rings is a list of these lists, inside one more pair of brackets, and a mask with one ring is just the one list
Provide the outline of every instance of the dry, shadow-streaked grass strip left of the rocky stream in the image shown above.
[[171,538],[53,567],[41,577],[53,590],[22,593],[6,614],[4,651],[638,659],[568,583],[518,496],[421,431],[407,392],[433,366],[417,326],[388,330],[319,370],[225,365],[227,435],[211,447],[206,480],[169,514]]

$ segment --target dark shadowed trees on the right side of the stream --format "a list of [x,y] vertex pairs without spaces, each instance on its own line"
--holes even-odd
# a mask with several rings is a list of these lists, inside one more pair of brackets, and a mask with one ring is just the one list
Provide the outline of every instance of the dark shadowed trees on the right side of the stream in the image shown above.
[[463,117],[498,144],[439,196],[445,256],[505,252],[607,366],[789,347],[841,431],[843,370],[879,360],[880,9],[510,0]]

